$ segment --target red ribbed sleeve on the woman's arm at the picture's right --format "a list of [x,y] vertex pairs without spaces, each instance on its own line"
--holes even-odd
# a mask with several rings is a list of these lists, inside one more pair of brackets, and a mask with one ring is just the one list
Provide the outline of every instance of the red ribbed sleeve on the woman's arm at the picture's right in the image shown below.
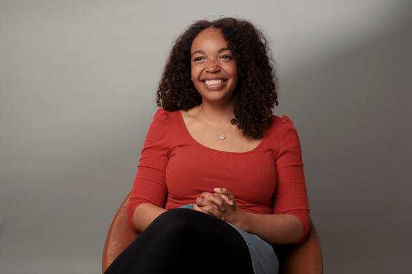
[[288,116],[282,117],[279,153],[276,158],[277,186],[273,197],[274,214],[292,214],[302,224],[302,242],[310,227],[308,194],[299,136]]

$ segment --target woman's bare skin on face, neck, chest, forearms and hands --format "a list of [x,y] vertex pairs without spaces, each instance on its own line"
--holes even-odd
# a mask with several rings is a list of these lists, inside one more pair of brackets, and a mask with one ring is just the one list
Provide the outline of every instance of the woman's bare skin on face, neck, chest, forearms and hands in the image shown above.
[[[234,91],[238,82],[236,60],[233,59],[220,29],[209,28],[198,34],[191,48],[191,76],[193,84],[201,94],[203,118],[198,106],[181,111],[188,132],[206,147],[220,151],[244,152],[257,147],[261,140],[246,138],[236,126],[226,132],[227,139],[220,140],[234,118]],[[218,81],[213,84],[207,80]],[[216,82],[215,82],[216,83]],[[196,199],[194,210],[216,216],[247,232],[256,234],[277,244],[288,244],[299,240],[302,226],[291,214],[253,214],[238,208],[236,197],[222,186],[213,192],[202,192]],[[146,229],[164,208],[143,203],[133,212],[133,223],[140,231]]]

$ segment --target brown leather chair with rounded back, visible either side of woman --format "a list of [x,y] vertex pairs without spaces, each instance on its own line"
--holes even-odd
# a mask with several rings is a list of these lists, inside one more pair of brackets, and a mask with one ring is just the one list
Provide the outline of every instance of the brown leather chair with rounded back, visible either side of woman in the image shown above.
[[[139,234],[128,223],[127,203],[130,193],[124,199],[122,206],[115,214],[103,249],[102,271],[122,253],[130,242],[133,242]],[[323,262],[321,245],[313,223],[310,223],[308,238],[299,245],[277,245],[276,254],[280,262],[279,274],[321,274]]]

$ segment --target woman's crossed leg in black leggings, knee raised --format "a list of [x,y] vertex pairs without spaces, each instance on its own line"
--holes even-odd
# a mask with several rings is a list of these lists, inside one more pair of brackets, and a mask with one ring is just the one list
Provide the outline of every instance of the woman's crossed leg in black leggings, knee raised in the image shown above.
[[214,216],[177,208],[153,221],[108,267],[113,273],[253,273],[246,242]]

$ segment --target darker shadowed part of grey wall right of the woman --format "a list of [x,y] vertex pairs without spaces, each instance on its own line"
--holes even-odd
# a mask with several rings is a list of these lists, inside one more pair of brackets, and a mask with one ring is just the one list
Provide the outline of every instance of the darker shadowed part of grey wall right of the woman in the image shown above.
[[290,102],[301,137],[326,272],[409,267],[411,30],[404,25],[281,83],[281,105]]

